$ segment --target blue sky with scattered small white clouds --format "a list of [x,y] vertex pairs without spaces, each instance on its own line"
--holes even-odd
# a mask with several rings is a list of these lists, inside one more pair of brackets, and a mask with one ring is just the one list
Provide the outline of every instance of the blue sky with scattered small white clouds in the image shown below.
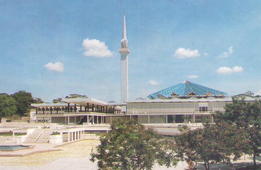
[[120,101],[124,9],[129,99],[185,80],[261,95],[261,3],[237,0],[1,0],[0,93]]

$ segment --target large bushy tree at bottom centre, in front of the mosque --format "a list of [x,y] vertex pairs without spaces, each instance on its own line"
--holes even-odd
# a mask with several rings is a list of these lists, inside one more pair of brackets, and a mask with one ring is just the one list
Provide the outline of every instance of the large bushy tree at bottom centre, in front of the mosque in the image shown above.
[[99,170],[151,170],[155,163],[176,165],[173,153],[154,129],[134,120],[114,121],[110,129],[100,137],[96,153],[91,154],[90,161],[98,160]]

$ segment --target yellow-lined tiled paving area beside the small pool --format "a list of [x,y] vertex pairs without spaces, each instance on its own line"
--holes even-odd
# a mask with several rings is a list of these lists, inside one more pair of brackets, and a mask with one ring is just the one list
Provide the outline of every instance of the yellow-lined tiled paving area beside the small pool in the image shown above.
[[0,157],[0,165],[43,165],[61,157],[85,157],[99,144],[99,140],[85,139],[57,147],[60,151],[34,153],[23,157]]

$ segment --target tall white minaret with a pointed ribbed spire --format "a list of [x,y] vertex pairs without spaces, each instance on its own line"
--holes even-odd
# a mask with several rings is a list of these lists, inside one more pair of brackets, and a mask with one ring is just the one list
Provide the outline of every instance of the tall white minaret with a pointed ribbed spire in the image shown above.
[[123,32],[121,39],[121,102],[128,100],[128,40],[126,37],[125,12],[123,15]]

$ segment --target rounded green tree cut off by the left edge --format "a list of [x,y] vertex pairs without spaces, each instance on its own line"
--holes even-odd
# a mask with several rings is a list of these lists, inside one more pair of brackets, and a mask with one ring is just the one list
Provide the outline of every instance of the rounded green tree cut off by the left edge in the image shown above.
[[16,112],[15,99],[8,94],[0,94],[0,122],[3,117],[11,117]]

